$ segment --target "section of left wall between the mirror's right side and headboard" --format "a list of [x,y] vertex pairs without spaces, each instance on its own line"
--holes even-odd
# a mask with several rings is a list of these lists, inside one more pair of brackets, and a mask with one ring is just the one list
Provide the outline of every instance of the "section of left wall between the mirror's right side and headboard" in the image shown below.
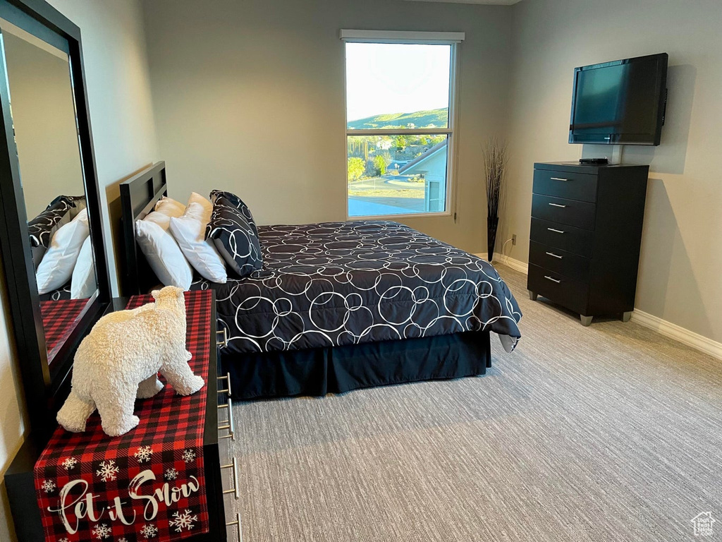
[[119,181],[158,160],[139,0],[51,0],[80,27],[110,282],[118,293]]

